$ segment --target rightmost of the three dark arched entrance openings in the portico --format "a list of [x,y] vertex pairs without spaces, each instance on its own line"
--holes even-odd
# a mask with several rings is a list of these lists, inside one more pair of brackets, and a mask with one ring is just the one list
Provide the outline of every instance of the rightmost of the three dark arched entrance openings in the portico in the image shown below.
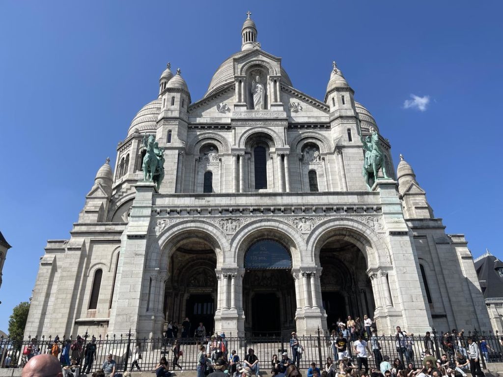
[[375,304],[372,285],[367,276],[367,263],[363,253],[353,243],[334,236],[321,248],[321,299],[325,309],[328,330],[337,328],[339,319],[346,323],[363,316],[373,318]]

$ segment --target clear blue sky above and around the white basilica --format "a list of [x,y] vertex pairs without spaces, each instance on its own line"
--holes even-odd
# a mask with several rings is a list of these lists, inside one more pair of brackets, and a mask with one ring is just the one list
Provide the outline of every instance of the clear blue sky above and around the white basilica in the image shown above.
[[30,297],[46,240],[69,237],[97,170],[156,98],[166,62],[197,101],[240,49],[248,10],[304,93],[324,98],[336,60],[446,231],[464,233],[474,256],[503,258],[503,3],[4,0],[0,230],[13,247],[1,330]]

